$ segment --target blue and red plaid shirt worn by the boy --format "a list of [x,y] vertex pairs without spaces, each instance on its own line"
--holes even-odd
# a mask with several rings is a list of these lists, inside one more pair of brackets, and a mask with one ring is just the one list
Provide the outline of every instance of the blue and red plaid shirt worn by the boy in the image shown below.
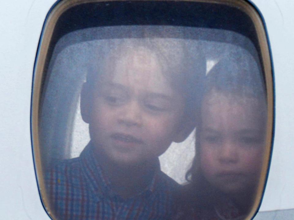
[[[67,213],[75,213],[77,216],[84,215],[81,207],[90,210],[94,216],[99,212],[97,204],[101,205],[99,207],[101,210],[109,211],[111,206],[108,207],[105,204],[108,202],[112,204],[116,201],[113,199],[115,197],[111,197],[111,188],[104,181],[99,167],[96,167],[97,164],[93,163],[95,161],[91,159],[91,154],[87,154],[87,151],[85,149],[77,158],[56,162],[46,172],[47,195],[52,208],[62,217],[67,216]],[[137,208],[144,204],[142,216],[143,214],[144,216],[154,215],[156,219],[166,219],[160,216],[171,215],[171,207],[174,202],[173,192],[178,189],[179,184],[160,170],[159,161],[150,187],[131,199],[132,202],[126,200],[123,203],[126,212],[130,211],[134,204],[136,204],[135,207],[138,205]],[[156,210],[154,207],[157,207]]]

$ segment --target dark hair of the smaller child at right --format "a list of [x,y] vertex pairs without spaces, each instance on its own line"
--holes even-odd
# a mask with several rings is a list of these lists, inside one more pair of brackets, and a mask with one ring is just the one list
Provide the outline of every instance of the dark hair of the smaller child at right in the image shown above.
[[[227,94],[234,98],[256,98],[266,106],[266,88],[262,71],[256,63],[240,60],[238,56],[220,60],[206,75],[202,98],[210,92]],[[201,104],[200,104],[201,105]],[[201,108],[196,108],[196,114],[201,115]],[[261,109],[266,114],[266,108]],[[195,134],[195,156],[191,168],[186,173],[188,200],[195,206],[203,207],[217,200],[218,192],[209,184],[200,167],[200,141],[197,133],[201,130],[201,119],[198,118]],[[190,198],[190,199],[189,199]],[[199,199],[199,201],[198,201]]]

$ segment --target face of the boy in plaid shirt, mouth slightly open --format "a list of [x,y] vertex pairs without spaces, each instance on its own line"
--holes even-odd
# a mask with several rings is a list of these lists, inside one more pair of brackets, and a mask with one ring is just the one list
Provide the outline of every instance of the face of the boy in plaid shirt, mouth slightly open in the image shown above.
[[144,48],[107,63],[93,91],[89,130],[96,149],[115,163],[154,160],[171,144],[184,101]]

